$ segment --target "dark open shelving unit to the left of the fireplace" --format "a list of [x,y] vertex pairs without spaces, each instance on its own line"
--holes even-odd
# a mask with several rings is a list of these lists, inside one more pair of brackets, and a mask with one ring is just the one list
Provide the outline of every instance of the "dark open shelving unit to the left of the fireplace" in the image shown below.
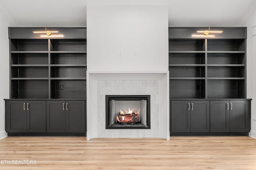
[[10,98],[86,98],[86,28],[58,28],[70,35],[58,39],[34,29],[9,30]]

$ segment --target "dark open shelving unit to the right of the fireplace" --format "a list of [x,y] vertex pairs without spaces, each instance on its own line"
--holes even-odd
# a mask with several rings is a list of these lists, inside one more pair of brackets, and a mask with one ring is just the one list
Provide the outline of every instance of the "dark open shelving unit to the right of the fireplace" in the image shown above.
[[178,29],[169,28],[170,98],[246,98],[246,28],[205,39]]

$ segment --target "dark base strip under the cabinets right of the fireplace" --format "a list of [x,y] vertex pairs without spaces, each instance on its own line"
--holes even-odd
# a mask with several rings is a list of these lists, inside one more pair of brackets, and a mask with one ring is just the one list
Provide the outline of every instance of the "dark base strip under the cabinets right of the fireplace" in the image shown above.
[[235,132],[235,133],[230,133],[230,132],[214,132],[214,133],[170,133],[170,136],[248,136],[248,132]]

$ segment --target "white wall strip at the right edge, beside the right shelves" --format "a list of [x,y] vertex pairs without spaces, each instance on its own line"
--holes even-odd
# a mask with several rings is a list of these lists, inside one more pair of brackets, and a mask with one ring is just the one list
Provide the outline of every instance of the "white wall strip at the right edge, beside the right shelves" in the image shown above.
[[256,138],[256,9],[242,26],[247,27],[247,98],[252,98],[249,135]]

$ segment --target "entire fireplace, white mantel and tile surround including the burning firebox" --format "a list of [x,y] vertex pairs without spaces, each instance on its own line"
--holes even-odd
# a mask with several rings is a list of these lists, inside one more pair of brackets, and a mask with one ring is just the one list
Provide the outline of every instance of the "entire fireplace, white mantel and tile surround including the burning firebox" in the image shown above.
[[[87,88],[90,90],[87,94],[87,139],[105,137],[168,139],[170,135],[167,74],[164,72],[88,73]],[[117,105],[120,106],[116,107]],[[115,107],[112,108],[115,112],[112,113],[113,115],[108,113],[110,107]],[[124,107],[123,110],[120,111],[120,107]],[[143,117],[139,117],[142,114]]]

